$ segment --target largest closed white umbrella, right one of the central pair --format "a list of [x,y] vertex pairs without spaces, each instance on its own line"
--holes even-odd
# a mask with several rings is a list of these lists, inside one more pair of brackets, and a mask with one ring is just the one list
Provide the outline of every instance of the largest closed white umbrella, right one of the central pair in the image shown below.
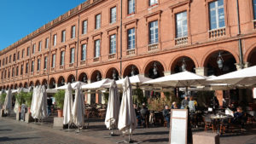
[[123,84],[123,96],[119,111],[118,128],[123,133],[128,133],[129,138],[133,130],[137,127],[137,118],[132,103],[132,89],[128,77],[125,78]]

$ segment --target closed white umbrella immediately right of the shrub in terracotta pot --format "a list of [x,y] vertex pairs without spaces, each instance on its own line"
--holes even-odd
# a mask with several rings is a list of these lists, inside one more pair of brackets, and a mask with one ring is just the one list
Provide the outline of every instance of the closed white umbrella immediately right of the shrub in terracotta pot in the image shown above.
[[71,84],[67,84],[67,89],[65,90],[65,99],[64,99],[64,107],[63,107],[63,124],[71,124],[73,123],[72,119],[72,107],[73,107],[73,96],[72,96],[72,88]]

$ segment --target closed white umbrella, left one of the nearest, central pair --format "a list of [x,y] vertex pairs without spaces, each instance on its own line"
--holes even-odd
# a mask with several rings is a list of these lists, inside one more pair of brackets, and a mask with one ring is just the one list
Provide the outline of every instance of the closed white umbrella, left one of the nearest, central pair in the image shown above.
[[[109,88],[109,96],[108,96],[108,108],[105,118],[105,125],[109,130],[113,130],[117,126],[117,122],[119,119],[119,95],[118,88],[113,81]],[[113,132],[112,132],[113,134]]]

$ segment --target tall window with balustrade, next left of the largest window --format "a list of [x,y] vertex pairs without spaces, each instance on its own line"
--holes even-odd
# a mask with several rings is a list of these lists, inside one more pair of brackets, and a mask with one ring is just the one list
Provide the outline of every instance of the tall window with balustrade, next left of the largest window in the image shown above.
[[187,12],[176,14],[176,37],[188,36]]

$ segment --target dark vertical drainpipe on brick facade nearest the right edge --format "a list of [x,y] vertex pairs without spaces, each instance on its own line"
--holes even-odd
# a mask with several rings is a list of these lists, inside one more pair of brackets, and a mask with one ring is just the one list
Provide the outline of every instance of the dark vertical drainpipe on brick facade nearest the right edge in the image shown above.
[[[239,15],[239,2],[236,0],[236,11],[237,11],[237,28],[238,33],[237,35],[240,36],[241,29],[240,29],[240,15]],[[243,68],[243,55],[242,55],[242,48],[241,48],[241,38],[238,39],[238,49],[239,49],[239,65],[241,69]]]

